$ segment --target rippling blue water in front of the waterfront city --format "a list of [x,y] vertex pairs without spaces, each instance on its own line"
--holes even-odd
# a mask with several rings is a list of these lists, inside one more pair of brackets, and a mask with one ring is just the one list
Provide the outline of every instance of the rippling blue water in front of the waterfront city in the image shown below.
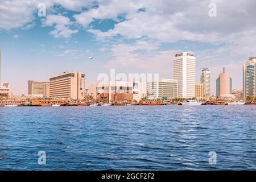
[[255,105],[0,107],[0,115],[0,170],[256,169]]

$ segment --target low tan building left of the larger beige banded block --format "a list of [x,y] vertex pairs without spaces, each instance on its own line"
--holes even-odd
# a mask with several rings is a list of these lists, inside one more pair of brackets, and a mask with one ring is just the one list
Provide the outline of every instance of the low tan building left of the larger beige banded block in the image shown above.
[[27,81],[28,95],[34,95],[39,97],[49,97],[49,82],[39,82],[39,81]]

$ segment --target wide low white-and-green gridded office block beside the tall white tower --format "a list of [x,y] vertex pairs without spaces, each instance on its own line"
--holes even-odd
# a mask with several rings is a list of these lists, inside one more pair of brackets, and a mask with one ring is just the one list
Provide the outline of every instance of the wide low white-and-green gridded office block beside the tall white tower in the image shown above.
[[147,82],[147,99],[163,100],[177,98],[178,81],[173,79],[158,78]]

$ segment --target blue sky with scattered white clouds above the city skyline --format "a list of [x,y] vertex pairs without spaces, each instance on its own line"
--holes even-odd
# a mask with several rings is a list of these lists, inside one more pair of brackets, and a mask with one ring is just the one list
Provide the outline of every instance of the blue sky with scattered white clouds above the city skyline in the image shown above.
[[86,88],[112,68],[173,78],[175,53],[189,51],[197,82],[209,68],[212,93],[222,67],[241,89],[242,64],[256,56],[255,7],[254,0],[1,1],[1,82],[27,94],[28,80],[65,71],[85,72]]

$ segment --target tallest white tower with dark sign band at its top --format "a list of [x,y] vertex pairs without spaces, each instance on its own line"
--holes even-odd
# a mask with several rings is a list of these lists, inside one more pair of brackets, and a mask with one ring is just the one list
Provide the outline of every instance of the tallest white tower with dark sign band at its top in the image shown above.
[[191,52],[176,53],[174,57],[174,79],[178,81],[178,97],[196,96],[196,57]]

